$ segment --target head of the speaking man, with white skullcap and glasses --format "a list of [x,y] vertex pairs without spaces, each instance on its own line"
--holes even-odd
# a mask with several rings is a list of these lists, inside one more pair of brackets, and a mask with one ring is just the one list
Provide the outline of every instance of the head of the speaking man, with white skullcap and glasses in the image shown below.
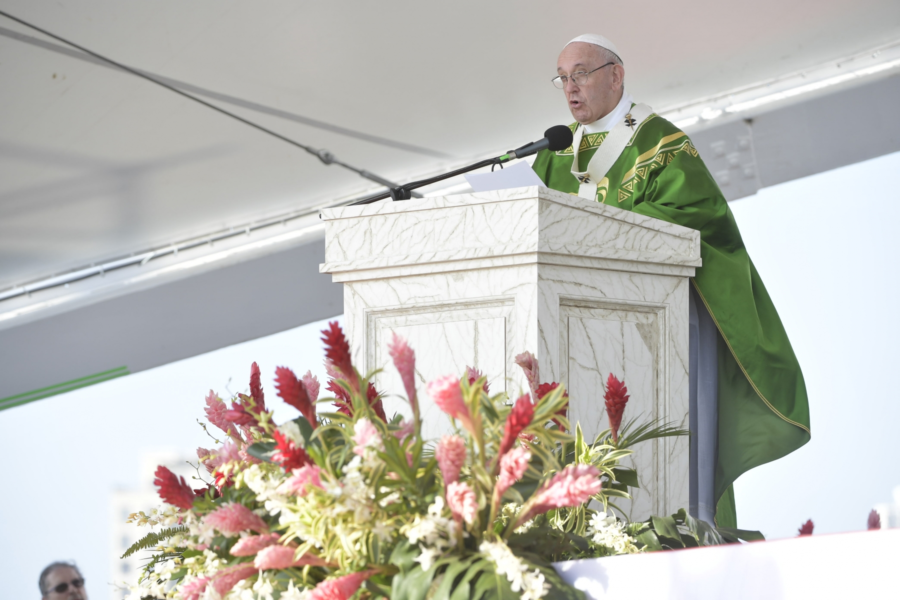
[[554,84],[563,85],[575,121],[587,125],[608,115],[622,99],[625,67],[616,52],[598,44],[576,41],[584,38],[596,38],[612,46],[605,38],[590,34],[570,41],[556,61],[559,78]]

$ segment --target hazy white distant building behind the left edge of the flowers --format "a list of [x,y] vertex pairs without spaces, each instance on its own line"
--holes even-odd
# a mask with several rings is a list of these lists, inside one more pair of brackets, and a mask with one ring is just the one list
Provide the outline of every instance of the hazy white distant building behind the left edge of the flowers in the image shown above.
[[[140,456],[140,487],[116,489],[112,492],[109,573],[113,585],[110,587],[110,600],[122,600],[128,595],[127,589],[119,587],[120,585],[137,585],[140,569],[147,563],[149,553],[147,551],[135,552],[127,559],[121,559],[121,555],[130,548],[131,544],[151,531],[157,531],[160,527],[157,525],[151,529],[149,525],[139,527],[137,524],[126,523],[128,515],[131,513],[144,511],[149,514],[151,509],[162,504],[162,500],[157,496],[157,489],[153,487],[154,472],[157,470],[157,466],[165,465],[176,475],[183,476],[192,488],[204,487],[200,481],[192,479],[197,476],[197,471],[187,464],[187,461],[196,464],[197,457],[184,456],[178,452],[165,450],[145,452]],[[202,472],[205,474],[205,470]]]

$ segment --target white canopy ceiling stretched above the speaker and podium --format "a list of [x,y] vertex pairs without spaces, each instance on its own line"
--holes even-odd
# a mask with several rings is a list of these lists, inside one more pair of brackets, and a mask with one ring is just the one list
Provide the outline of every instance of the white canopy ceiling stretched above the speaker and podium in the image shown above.
[[[616,41],[630,91],[657,108],[900,38],[896,0],[3,4],[131,67],[430,150],[222,104],[395,181],[570,122],[549,79],[563,43],[585,31]],[[0,35],[0,106],[0,289],[380,189],[147,81],[10,34]]]

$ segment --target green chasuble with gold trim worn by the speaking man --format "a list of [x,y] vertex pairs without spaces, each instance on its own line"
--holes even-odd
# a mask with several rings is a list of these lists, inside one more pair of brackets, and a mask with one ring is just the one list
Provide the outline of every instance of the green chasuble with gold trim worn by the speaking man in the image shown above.
[[[606,136],[584,134],[576,170],[587,170]],[[543,150],[534,169],[547,187],[578,193],[571,147]],[[700,232],[703,266],[692,281],[722,336],[716,522],[734,527],[734,479],[809,441],[806,384],[788,335],[725,197],[688,135],[671,122],[651,114],[638,125],[598,184],[597,201]]]

